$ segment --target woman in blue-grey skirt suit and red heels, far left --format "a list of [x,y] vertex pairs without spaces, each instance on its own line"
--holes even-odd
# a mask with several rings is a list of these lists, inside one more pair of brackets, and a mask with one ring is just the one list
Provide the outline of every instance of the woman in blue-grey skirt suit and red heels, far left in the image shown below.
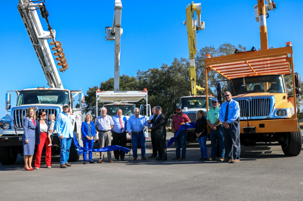
[[35,128],[36,128],[36,114],[33,107],[28,108],[26,118],[23,121],[23,155],[24,155],[24,169],[34,170],[32,168],[32,159],[35,150]]

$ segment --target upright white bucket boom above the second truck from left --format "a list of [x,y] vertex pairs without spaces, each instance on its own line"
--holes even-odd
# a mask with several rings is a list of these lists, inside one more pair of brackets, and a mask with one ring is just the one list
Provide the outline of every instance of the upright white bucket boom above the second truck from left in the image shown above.
[[114,91],[120,90],[120,37],[123,33],[121,28],[122,2],[115,0],[115,12],[112,27],[105,27],[106,40],[115,40],[115,69],[114,69]]

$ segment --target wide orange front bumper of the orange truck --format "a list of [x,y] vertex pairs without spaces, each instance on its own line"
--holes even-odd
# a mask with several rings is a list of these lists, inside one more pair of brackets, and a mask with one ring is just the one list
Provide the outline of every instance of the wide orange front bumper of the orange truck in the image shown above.
[[[256,133],[298,131],[298,119],[251,120],[248,122],[250,127],[256,127]],[[247,127],[247,121],[240,121],[240,126],[240,133],[244,133],[243,127]]]

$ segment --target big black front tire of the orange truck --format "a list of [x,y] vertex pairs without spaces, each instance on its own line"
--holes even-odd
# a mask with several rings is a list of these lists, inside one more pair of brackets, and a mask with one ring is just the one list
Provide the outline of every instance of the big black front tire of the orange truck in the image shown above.
[[287,156],[297,156],[301,152],[302,135],[298,127],[297,132],[287,132],[285,142],[281,144],[283,153]]

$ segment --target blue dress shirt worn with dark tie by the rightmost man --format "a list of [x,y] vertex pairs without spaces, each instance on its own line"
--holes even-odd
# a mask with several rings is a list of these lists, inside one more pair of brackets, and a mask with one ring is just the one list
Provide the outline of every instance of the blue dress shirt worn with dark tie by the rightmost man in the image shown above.
[[219,111],[219,119],[221,122],[224,122],[224,117],[225,117],[225,111],[227,104],[229,103],[229,108],[228,108],[228,123],[231,123],[235,120],[237,120],[240,117],[240,107],[239,103],[237,101],[231,100],[229,102],[225,101],[222,103],[220,111]]

